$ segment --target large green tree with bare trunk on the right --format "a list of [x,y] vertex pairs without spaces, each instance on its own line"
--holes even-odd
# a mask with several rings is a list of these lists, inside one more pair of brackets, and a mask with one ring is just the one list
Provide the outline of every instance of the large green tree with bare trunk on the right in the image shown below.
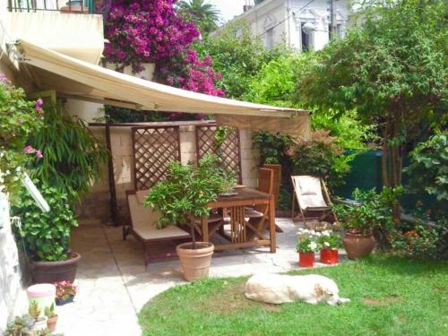
[[401,185],[405,145],[446,117],[445,10],[446,3],[429,0],[372,8],[298,82],[297,100],[339,115],[356,109],[379,125],[383,185]]

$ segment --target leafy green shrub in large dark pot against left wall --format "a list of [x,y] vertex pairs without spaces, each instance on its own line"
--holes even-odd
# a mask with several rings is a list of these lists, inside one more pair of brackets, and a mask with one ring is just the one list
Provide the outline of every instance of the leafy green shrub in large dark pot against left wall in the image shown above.
[[39,186],[39,190],[50,206],[49,212],[42,212],[24,188],[21,201],[13,208],[22,220],[19,235],[30,259],[32,279],[36,283],[73,281],[81,259],[69,249],[77,221],[65,193],[47,185]]

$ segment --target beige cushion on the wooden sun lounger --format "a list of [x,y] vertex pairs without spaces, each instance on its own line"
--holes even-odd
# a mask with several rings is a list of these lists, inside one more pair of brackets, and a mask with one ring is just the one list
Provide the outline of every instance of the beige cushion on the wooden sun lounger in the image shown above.
[[[148,194],[148,191],[145,191],[145,193]],[[143,200],[146,194],[142,193]],[[159,219],[159,212],[145,207],[142,202],[139,202],[137,194],[128,194],[127,202],[133,222],[133,230],[143,240],[190,237],[187,232],[174,225],[167,228],[157,228],[155,221]]]

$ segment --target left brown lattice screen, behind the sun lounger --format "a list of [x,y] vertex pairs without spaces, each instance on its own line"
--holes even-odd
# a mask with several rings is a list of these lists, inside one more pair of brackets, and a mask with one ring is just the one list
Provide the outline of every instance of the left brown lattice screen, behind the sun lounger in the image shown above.
[[134,186],[150,189],[163,180],[167,164],[180,161],[178,126],[133,127]]

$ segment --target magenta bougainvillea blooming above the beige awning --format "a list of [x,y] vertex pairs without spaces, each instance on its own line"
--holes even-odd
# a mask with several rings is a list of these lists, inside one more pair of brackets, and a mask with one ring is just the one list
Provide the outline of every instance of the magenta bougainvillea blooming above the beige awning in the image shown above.
[[[200,36],[193,22],[185,22],[173,8],[176,0],[116,0],[105,20],[106,61],[117,70],[132,65],[134,73],[142,64],[155,63],[154,80],[177,88],[223,97],[215,81],[220,73],[211,67],[210,56],[200,59],[192,42]],[[196,118],[202,118],[197,115]],[[171,119],[184,118],[173,113]]]

